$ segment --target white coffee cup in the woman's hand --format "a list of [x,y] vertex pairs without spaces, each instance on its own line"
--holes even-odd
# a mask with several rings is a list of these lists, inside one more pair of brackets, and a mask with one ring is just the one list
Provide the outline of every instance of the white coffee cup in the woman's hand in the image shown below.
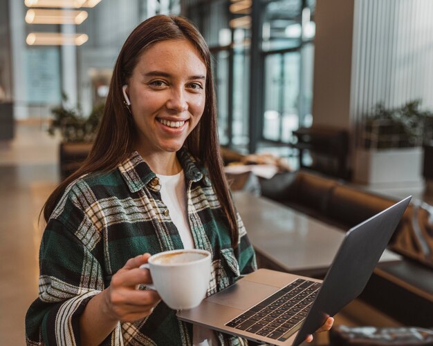
[[180,249],[156,253],[141,269],[149,269],[153,285],[165,304],[175,310],[192,309],[205,298],[210,280],[209,251]]

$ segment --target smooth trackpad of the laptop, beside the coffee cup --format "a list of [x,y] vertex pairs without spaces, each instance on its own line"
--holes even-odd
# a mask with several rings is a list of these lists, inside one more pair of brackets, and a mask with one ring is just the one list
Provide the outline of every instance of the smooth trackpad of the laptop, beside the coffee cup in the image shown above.
[[257,305],[261,300],[268,298],[268,296],[278,290],[279,287],[248,280],[239,280],[234,285],[206,298],[206,300],[215,304],[246,310]]

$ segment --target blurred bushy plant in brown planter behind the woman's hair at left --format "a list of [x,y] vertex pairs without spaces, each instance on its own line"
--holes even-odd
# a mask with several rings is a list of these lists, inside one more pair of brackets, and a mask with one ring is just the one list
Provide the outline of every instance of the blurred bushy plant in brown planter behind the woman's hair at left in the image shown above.
[[88,117],[83,115],[80,107],[68,108],[61,104],[51,110],[54,118],[48,126],[48,133],[59,133],[62,138],[59,145],[62,180],[78,169],[89,154],[103,110],[104,104],[95,105]]

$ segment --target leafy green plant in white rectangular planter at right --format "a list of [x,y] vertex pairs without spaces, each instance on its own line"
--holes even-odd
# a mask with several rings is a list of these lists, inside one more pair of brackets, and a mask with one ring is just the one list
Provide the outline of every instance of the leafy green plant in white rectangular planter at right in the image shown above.
[[376,104],[362,126],[356,182],[421,182],[422,146],[432,138],[433,114],[420,106],[420,100],[396,108]]

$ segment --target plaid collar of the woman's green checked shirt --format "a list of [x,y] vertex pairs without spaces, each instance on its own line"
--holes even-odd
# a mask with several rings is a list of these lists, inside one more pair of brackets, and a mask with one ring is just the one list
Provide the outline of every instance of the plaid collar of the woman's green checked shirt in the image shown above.
[[[199,182],[203,179],[204,175],[197,166],[196,160],[185,148],[181,148],[176,155],[187,180]],[[127,160],[119,164],[118,169],[125,179],[131,193],[140,191],[145,185],[147,185],[149,189],[159,191],[160,185],[158,177],[151,171],[149,165],[142,159],[137,151],[131,153],[131,156]]]

